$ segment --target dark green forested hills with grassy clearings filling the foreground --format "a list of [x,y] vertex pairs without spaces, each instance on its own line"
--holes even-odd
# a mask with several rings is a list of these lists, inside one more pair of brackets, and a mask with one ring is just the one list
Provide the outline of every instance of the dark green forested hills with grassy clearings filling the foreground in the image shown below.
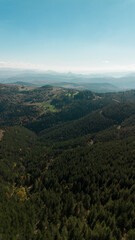
[[135,91],[0,84],[0,239],[135,240]]

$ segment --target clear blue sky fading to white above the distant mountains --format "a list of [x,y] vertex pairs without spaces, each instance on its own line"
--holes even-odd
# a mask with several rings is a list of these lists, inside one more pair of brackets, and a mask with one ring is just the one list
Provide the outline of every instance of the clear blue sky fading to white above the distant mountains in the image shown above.
[[135,71],[135,0],[0,0],[0,67]]

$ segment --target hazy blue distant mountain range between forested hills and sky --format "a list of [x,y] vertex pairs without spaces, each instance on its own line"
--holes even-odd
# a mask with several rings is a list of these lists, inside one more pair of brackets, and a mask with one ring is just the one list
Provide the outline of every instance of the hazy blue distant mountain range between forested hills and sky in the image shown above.
[[0,69],[0,83],[41,87],[46,84],[94,92],[118,92],[135,89],[135,73],[74,74]]

